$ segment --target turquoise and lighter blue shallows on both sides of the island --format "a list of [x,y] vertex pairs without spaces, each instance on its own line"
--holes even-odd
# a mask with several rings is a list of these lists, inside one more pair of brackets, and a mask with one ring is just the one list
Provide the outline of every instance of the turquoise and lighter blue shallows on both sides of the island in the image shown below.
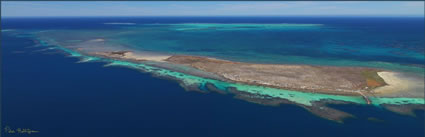
[[[361,97],[226,83],[156,68],[148,64],[85,56],[69,48],[84,41],[103,39],[105,41],[102,44],[94,47],[98,49],[125,47],[132,50],[201,55],[255,63],[373,67],[424,76],[423,48],[417,47],[417,44],[423,43],[423,39],[416,39],[421,36],[419,32],[410,32],[411,35],[406,37],[405,32],[402,32],[406,28],[400,30],[403,36],[399,36],[377,31],[376,29],[382,29],[379,27],[326,23],[131,23],[107,26],[109,29],[38,30],[32,31],[32,35],[42,40],[44,42],[42,44],[55,45],[70,56],[80,57],[80,62],[102,60],[110,62],[108,66],[127,66],[159,76],[177,78],[184,86],[196,85],[200,89],[205,89],[206,83],[212,83],[223,91],[234,87],[240,91],[287,99],[304,105],[312,105],[312,102],[323,99],[358,104],[365,104],[365,101]],[[372,32],[376,34],[369,34]],[[364,36],[365,34],[369,35]],[[406,48],[400,48],[402,46]],[[389,59],[391,61],[388,61]],[[422,98],[371,97],[371,100],[375,105],[424,104]]]

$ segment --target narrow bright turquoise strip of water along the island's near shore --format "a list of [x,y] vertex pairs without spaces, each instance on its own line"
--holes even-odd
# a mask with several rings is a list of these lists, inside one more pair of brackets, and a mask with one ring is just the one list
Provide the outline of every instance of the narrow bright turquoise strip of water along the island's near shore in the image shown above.
[[[43,45],[48,45],[44,41],[40,41],[40,43]],[[268,88],[268,87],[262,87],[262,86],[245,85],[245,84],[239,84],[239,83],[228,83],[228,82],[188,75],[188,74],[175,72],[171,70],[161,69],[158,67],[153,67],[147,64],[142,64],[142,63],[133,63],[133,62],[127,62],[127,61],[85,56],[78,52],[69,50],[67,48],[63,48],[59,45],[56,45],[55,47],[58,48],[59,50],[63,50],[67,52],[72,57],[80,58],[83,62],[106,61],[106,62],[110,62],[107,66],[125,66],[125,67],[134,68],[134,69],[141,69],[146,72],[157,74],[158,76],[177,78],[182,82],[183,86],[195,85],[199,87],[199,89],[205,89],[205,84],[211,83],[211,84],[214,84],[214,86],[217,89],[222,91],[227,91],[228,88],[233,87],[239,91],[248,92],[248,93],[252,93],[252,94],[260,95],[264,97],[287,99],[291,102],[294,102],[297,104],[303,104],[307,106],[311,106],[313,102],[320,101],[320,100],[336,100],[336,101],[352,102],[357,104],[366,104],[365,100],[360,96],[340,96],[340,95],[328,95],[328,94],[318,94],[318,93],[305,93],[305,92]],[[423,98],[371,97],[370,99],[372,100],[372,103],[377,106],[381,104],[402,105],[402,104],[424,104],[425,103]]]

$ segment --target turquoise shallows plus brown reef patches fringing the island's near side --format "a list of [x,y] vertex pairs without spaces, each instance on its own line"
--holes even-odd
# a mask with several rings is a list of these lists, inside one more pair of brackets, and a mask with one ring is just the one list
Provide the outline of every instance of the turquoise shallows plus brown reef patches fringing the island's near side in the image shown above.
[[[46,44],[43,41],[40,41],[41,44]],[[151,73],[155,77],[171,79],[177,81],[180,85],[188,91],[199,91],[202,93],[214,91],[218,93],[232,93],[235,98],[239,98],[248,102],[253,102],[263,105],[279,105],[279,104],[295,104],[297,106],[303,107],[311,113],[316,114],[319,117],[340,122],[342,123],[345,118],[353,117],[353,115],[340,111],[337,109],[332,109],[327,107],[327,104],[360,104],[365,105],[368,102],[365,101],[359,94],[353,95],[340,95],[340,94],[326,94],[326,93],[317,93],[317,92],[303,92],[297,90],[286,90],[270,86],[262,86],[255,84],[246,84],[235,81],[228,81],[226,79],[220,80],[211,77],[205,77],[202,75],[196,75],[193,73],[193,70],[198,70],[196,68],[184,71],[175,71],[173,69],[174,65],[185,66],[184,64],[172,64],[166,62],[165,60],[155,61],[150,58],[144,58],[143,60],[132,60],[128,58],[120,58],[121,54],[126,55],[128,51],[126,50],[107,50],[103,51],[108,53],[106,55],[113,55],[117,57],[104,56],[104,55],[94,55],[89,54],[89,52],[84,52],[76,49],[68,49],[66,47],[61,47],[59,45],[54,46],[55,48],[65,51],[73,57],[78,57],[81,60],[87,61],[102,61],[107,62],[106,66],[124,66],[129,68],[134,68],[142,70],[143,72]],[[125,52],[122,52],[125,51]],[[174,55],[173,55],[174,56]],[[172,56],[171,56],[172,57]],[[170,57],[169,57],[170,58]],[[207,58],[207,57],[204,57]],[[213,59],[210,58],[212,62],[226,62],[228,64],[234,64],[234,62]],[[165,61],[165,62],[164,62]],[[186,60],[187,61],[187,60]],[[190,62],[190,60],[189,60]],[[168,68],[164,68],[164,64],[171,64]],[[236,63],[239,64],[239,63]],[[190,68],[190,67],[187,67]],[[342,67],[346,68],[346,67]],[[184,73],[191,72],[191,73]],[[213,73],[214,74],[214,73]],[[364,75],[362,75],[364,76]],[[365,82],[366,83],[366,82]],[[235,92],[237,91],[237,92]],[[246,96],[245,96],[246,95]],[[387,108],[385,105],[393,104],[391,107],[404,105],[414,105],[414,106],[423,106],[424,101],[422,98],[385,98],[378,96],[371,96],[371,104],[379,106],[382,105],[384,108]],[[405,111],[412,109],[423,109],[421,107],[412,107]],[[397,112],[395,109],[388,109],[390,111]],[[332,113],[329,113],[332,112]]]

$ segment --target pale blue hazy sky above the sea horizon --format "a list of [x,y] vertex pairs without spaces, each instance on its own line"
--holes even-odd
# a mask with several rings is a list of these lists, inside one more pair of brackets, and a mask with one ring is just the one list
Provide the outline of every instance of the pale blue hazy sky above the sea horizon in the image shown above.
[[2,17],[424,16],[423,1],[2,1]]

